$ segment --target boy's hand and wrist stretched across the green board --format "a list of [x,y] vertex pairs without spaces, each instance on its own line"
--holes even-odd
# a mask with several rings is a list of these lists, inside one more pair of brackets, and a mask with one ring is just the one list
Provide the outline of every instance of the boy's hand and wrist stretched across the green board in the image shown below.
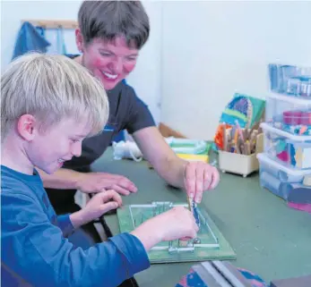
[[133,232],[146,250],[160,241],[195,238],[199,227],[194,216],[185,207],[174,207],[138,226]]

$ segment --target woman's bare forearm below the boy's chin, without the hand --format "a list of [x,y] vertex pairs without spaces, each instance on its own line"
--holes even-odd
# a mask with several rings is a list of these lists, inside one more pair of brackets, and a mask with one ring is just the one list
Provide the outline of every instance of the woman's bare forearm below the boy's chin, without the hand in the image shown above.
[[38,168],[37,170],[39,171],[45,188],[59,190],[78,189],[78,181],[81,173],[65,168],[60,168],[53,174],[45,173]]

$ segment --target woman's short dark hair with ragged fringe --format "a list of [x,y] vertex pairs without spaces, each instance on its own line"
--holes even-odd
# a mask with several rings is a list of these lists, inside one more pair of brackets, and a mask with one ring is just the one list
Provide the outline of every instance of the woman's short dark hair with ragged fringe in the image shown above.
[[149,38],[149,18],[140,1],[83,1],[78,21],[86,45],[95,38],[124,37],[128,46],[140,49]]

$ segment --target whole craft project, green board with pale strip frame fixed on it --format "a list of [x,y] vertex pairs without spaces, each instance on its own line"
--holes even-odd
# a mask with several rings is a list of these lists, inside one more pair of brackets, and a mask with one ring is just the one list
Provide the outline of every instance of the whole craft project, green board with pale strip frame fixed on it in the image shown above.
[[[121,232],[132,232],[135,227],[153,216],[160,215],[176,206],[188,207],[187,204],[173,204],[169,201],[152,202],[145,205],[130,205],[117,209]],[[222,236],[209,215],[196,207],[200,220],[197,238],[191,241],[163,241],[153,247],[149,253],[151,263],[201,261],[203,259],[235,259],[236,254]]]

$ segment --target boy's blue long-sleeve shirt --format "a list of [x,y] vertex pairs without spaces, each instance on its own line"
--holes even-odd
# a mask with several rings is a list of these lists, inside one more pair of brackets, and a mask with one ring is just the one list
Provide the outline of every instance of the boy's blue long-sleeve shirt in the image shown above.
[[[150,266],[129,233],[90,249],[75,247],[69,215],[56,216],[38,173],[1,166],[3,286],[117,286]],[[20,285],[19,285],[20,284]]]

